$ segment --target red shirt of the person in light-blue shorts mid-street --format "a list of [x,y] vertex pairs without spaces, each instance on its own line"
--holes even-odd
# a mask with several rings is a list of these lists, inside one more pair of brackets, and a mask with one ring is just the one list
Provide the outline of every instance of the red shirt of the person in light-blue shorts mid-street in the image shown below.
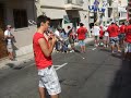
[[79,38],[79,40],[84,40],[85,37],[86,37],[86,35],[85,35],[86,33],[87,33],[87,29],[85,27],[80,27],[78,29],[78,38]]

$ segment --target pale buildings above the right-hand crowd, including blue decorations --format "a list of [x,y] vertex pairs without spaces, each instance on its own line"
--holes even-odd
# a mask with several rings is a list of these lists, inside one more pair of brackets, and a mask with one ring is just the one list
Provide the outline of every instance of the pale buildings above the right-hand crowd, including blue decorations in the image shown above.
[[90,24],[95,22],[99,25],[110,24],[115,21],[118,24],[127,20],[127,0],[88,0]]

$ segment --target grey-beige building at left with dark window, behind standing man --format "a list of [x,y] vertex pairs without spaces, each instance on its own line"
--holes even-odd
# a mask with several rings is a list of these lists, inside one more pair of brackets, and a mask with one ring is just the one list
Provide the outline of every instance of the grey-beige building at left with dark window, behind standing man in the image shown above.
[[[12,25],[15,56],[26,54],[32,50],[32,37],[36,27],[28,23],[29,20],[36,20],[34,0],[0,0],[0,33],[3,36],[5,26]],[[1,48],[0,50],[3,52]]]

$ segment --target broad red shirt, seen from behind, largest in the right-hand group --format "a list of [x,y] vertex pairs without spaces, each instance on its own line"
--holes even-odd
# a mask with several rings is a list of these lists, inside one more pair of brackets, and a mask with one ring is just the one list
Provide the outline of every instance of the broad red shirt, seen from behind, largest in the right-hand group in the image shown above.
[[119,27],[116,24],[112,24],[107,28],[107,32],[109,33],[109,37],[118,37],[118,30]]

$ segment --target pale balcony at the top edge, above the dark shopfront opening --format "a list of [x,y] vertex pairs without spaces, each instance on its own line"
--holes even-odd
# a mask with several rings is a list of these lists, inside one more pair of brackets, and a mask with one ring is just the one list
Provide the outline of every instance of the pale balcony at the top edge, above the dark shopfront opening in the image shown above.
[[83,0],[66,0],[66,10],[83,10]]

